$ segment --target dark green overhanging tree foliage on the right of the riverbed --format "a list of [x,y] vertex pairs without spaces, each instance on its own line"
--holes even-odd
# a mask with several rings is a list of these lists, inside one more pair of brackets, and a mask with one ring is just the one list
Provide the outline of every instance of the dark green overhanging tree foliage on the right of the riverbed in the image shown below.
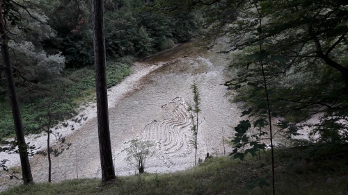
[[[223,10],[222,16],[209,12],[214,9]],[[319,124],[308,125],[319,135],[316,141],[345,142],[348,128],[342,124],[347,119],[341,110],[347,110],[347,11],[339,2],[302,0],[232,1],[207,8],[208,24],[216,22],[220,33],[230,37],[233,48],[226,52],[241,50],[230,65],[237,78],[226,82],[239,92],[233,101],[246,102],[253,115],[266,114],[261,60],[271,89],[271,116],[290,122],[281,126],[284,133],[294,134],[305,127],[299,122],[322,113]],[[230,20],[221,20],[228,15]]]

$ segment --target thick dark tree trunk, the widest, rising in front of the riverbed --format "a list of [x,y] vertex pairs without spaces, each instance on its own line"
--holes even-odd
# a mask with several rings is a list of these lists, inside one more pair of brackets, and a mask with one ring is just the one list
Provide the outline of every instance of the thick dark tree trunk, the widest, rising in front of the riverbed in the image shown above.
[[113,178],[116,178],[116,176],[112,160],[109,131],[109,110],[106,89],[106,49],[103,14],[104,3],[102,0],[93,0],[92,2],[98,137],[100,148],[100,163],[102,168],[102,181],[105,183]]

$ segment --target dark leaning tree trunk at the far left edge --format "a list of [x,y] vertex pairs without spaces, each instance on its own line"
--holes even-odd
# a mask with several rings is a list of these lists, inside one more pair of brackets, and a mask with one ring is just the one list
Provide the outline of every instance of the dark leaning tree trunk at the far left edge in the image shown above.
[[5,22],[3,19],[3,10],[1,9],[1,2],[0,2],[0,47],[1,47],[1,54],[3,58],[3,69],[6,74],[6,81],[8,84],[8,92],[10,96],[10,103],[12,108],[12,115],[13,115],[13,122],[15,124],[15,132],[17,136],[17,142],[18,142],[18,151],[19,151],[19,158],[21,161],[21,167],[22,167],[22,176],[23,176],[23,182],[24,185],[31,183],[33,181],[33,176],[31,176],[31,168],[28,158],[28,151],[26,147],[26,142],[24,139],[24,131],[23,131],[23,125],[22,125],[22,117],[19,110],[19,103],[17,99],[16,94],[16,87],[15,82],[13,80],[13,71],[10,64],[10,54],[8,52],[8,37],[6,35],[5,30]]

